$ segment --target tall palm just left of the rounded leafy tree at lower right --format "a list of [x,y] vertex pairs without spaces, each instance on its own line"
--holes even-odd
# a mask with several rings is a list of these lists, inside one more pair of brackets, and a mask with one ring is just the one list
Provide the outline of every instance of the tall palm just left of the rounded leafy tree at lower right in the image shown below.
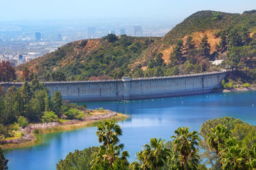
[[198,141],[200,140],[198,132],[189,132],[189,127],[179,127],[174,131],[176,136],[172,136],[174,151],[179,155],[174,155],[175,159],[179,160],[181,169],[188,169],[191,166],[196,166]]

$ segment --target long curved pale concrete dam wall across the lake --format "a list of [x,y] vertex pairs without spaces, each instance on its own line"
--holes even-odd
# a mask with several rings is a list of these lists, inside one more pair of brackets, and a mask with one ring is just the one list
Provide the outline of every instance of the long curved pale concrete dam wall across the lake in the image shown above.
[[[105,101],[143,99],[151,97],[203,94],[219,88],[227,72],[211,72],[156,78],[123,77],[108,81],[44,82],[52,96],[57,90],[69,101]],[[3,82],[0,85],[21,87],[22,83]]]

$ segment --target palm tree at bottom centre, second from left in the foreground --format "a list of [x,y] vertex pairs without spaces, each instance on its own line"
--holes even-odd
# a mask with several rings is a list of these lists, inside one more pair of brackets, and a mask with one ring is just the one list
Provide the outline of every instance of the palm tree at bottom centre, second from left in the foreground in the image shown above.
[[137,153],[140,162],[132,162],[131,169],[160,169],[169,155],[164,148],[164,140],[152,138],[149,144],[143,145],[144,150]]

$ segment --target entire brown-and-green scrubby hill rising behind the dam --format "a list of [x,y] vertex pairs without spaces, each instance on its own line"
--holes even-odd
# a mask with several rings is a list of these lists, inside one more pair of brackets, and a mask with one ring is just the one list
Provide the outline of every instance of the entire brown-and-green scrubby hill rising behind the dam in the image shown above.
[[16,67],[16,71],[22,80],[24,68],[28,67],[30,73],[45,81],[201,73],[221,69],[210,60],[227,59],[235,46],[247,49],[248,59],[239,62],[248,63],[252,69],[255,32],[256,10],[242,14],[198,11],[163,38],[109,34],[104,38],[74,41]]

